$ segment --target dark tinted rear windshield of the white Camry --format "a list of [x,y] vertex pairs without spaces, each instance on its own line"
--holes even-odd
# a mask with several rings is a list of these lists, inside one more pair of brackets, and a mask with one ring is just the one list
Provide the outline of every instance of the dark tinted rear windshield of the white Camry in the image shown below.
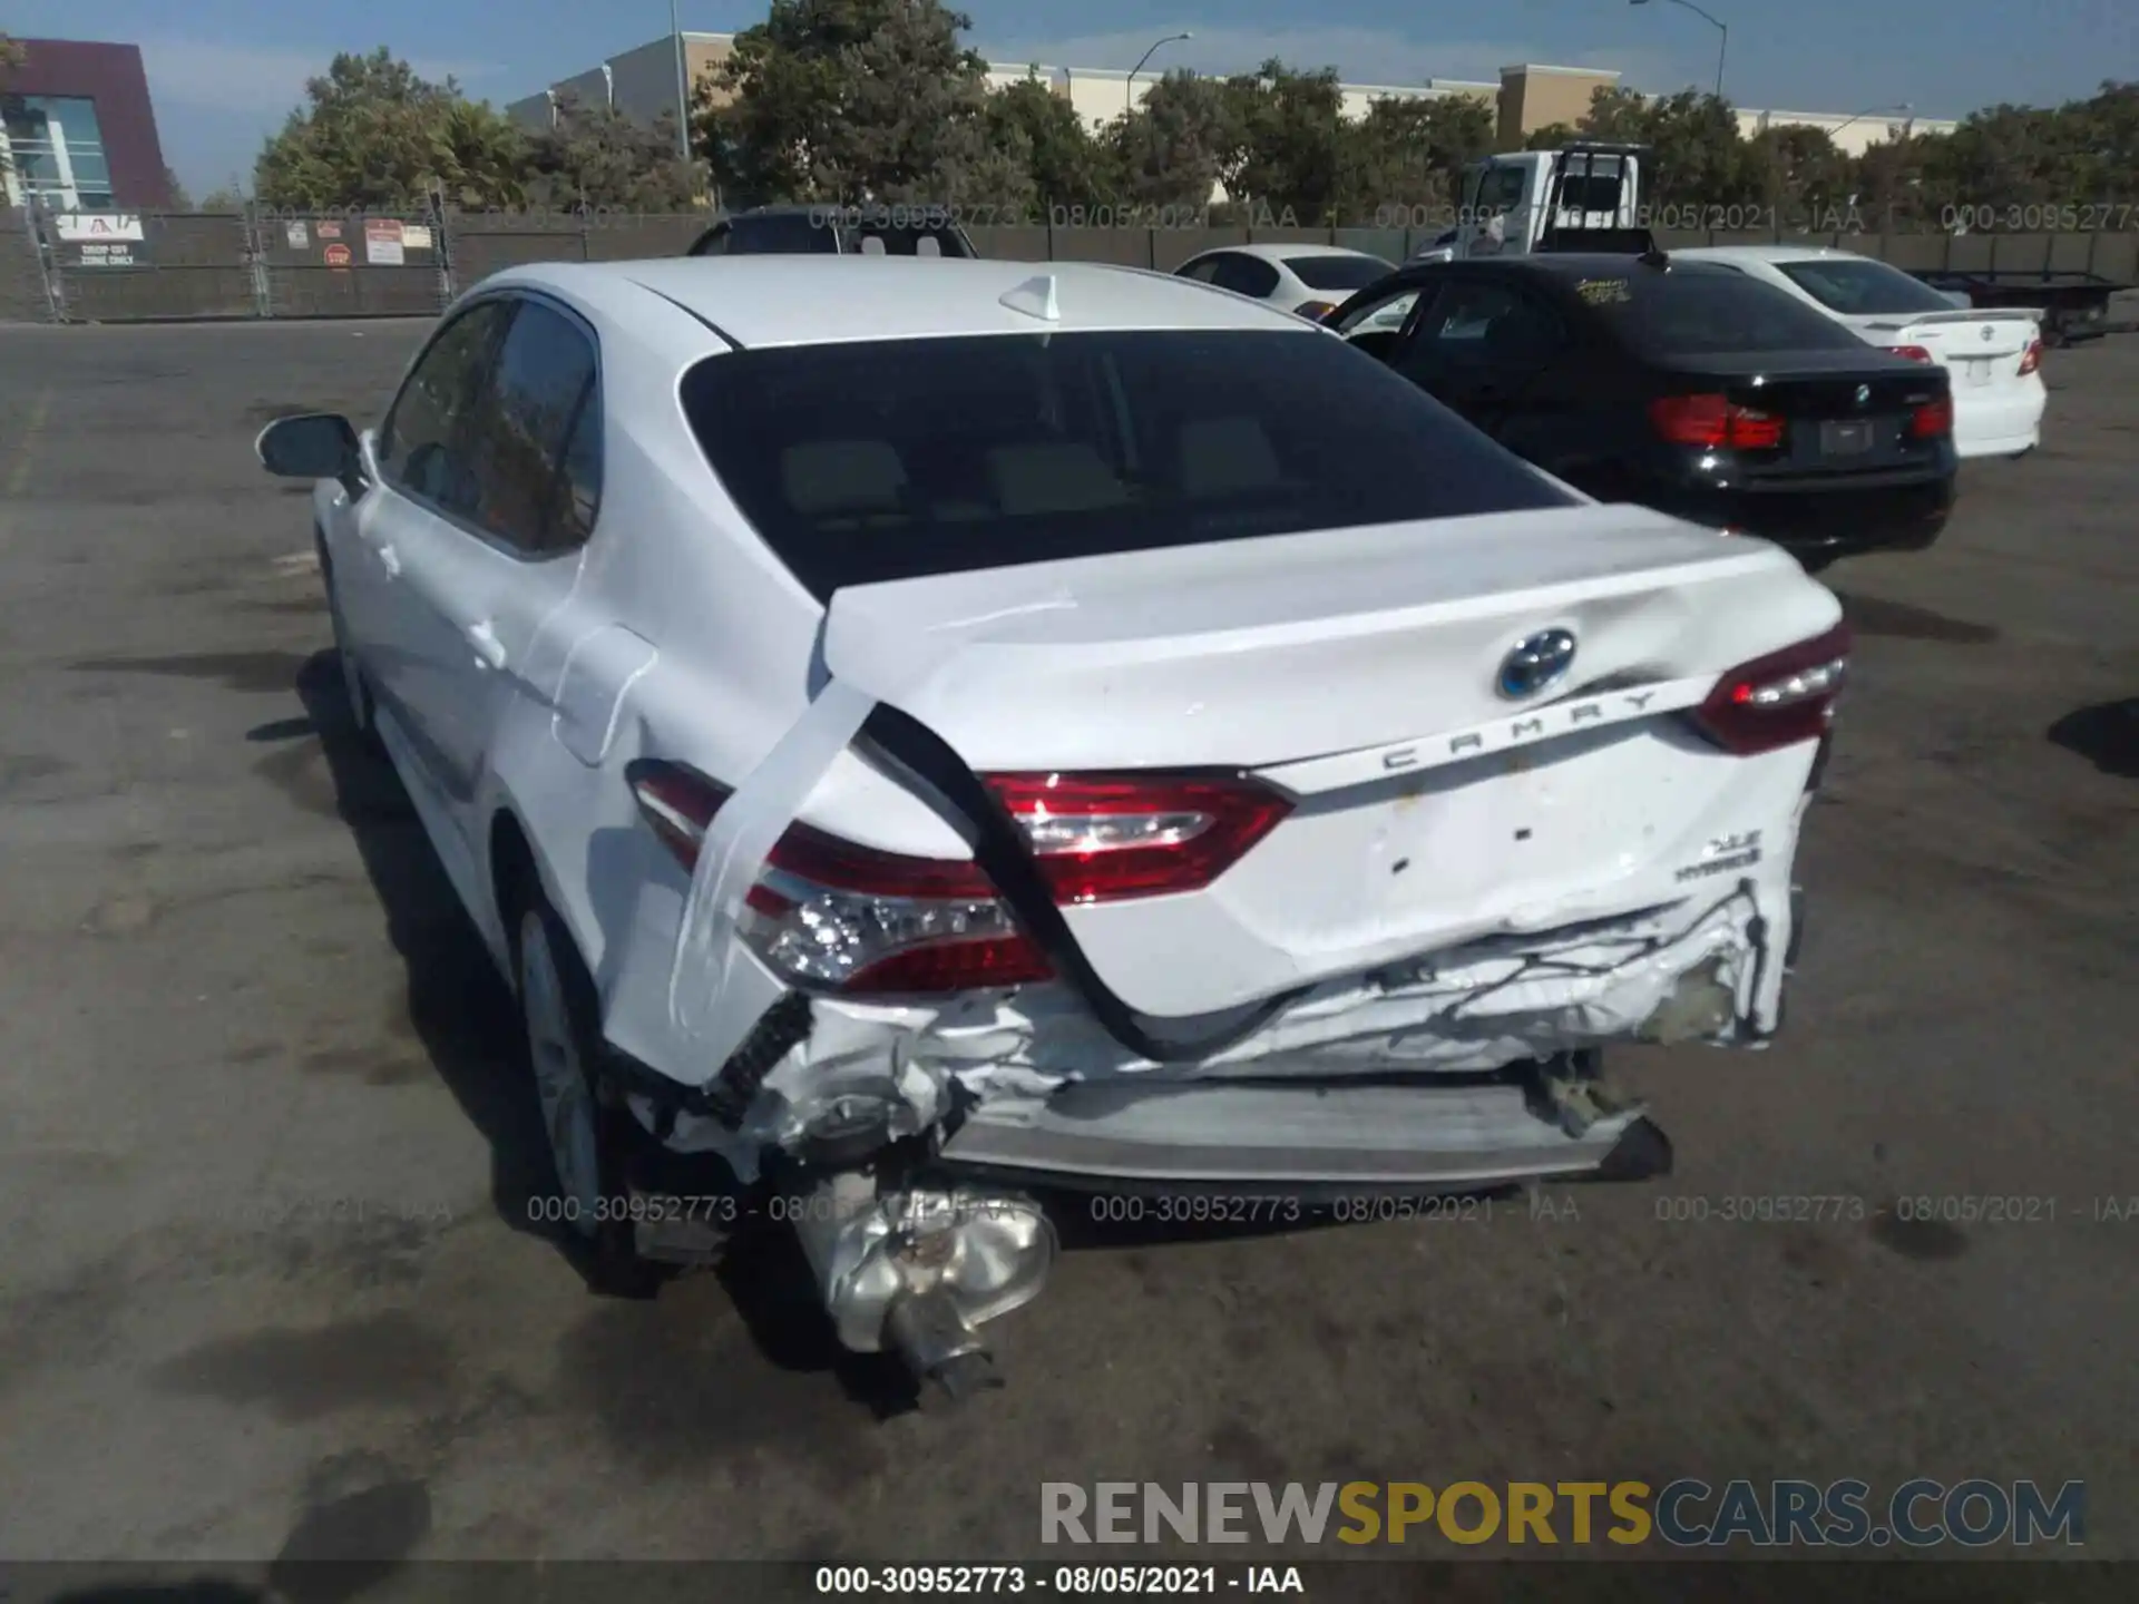
[[1378,361],[1264,329],[708,357],[706,458],[821,601],[849,584],[1572,496]]

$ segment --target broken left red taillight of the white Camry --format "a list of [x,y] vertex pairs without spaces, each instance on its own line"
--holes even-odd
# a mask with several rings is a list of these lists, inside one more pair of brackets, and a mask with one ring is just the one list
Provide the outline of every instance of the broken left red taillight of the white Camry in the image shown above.
[[[992,774],[1057,903],[1194,892],[1290,802],[1253,781],[1168,774]],[[631,766],[640,813],[684,868],[727,787],[678,764]],[[744,896],[742,935],[798,986],[847,994],[958,992],[1055,969],[969,858],[911,858],[794,823]]]

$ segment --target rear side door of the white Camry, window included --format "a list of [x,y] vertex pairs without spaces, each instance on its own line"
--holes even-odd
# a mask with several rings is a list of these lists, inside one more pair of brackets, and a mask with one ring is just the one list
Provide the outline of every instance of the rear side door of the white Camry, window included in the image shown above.
[[552,706],[567,603],[601,500],[595,334],[548,297],[511,302],[468,413],[473,505],[432,520],[404,560],[421,631],[411,699],[471,849],[486,826],[477,804],[494,731],[515,701]]

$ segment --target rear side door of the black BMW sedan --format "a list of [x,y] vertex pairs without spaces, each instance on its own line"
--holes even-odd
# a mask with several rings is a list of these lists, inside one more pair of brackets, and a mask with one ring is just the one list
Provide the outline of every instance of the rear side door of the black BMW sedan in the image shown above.
[[1559,314],[1538,295],[1465,276],[1450,278],[1412,321],[1390,366],[1487,434],[1499,434],[1564,349]]

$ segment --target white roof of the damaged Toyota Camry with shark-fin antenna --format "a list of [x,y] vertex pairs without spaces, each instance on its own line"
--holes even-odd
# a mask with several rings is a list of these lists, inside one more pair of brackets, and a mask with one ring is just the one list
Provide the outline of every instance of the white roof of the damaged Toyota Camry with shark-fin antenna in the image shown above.
[[[1027,289],[1037,306],[1052,280],[1057,319],[1003,306]],[[958,257],[657,257],[550,261],[509,267],[486,287],[550,289],[595,310],[637,319],[650,297],[680,306],[740,346],[928,340],[956,334],[1089,329],[1279,329],[1315,334],[1290,312],[1191,278],[1082,261],[967,261]]]

